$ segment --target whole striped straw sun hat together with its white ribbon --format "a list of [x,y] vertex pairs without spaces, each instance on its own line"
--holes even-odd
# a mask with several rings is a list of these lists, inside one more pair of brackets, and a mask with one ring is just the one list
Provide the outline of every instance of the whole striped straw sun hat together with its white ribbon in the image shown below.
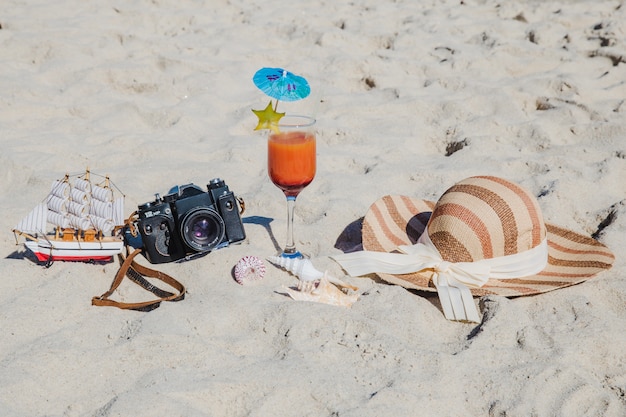
[[[375,272],[405,288],[438,291],[440,298],[442,286],[467,287],[474,296],[538,294],[586,281],[609,269],[614,260],[611,251],[595,239],[545,224],[534,196],[498,177],[467,178],[436,203],[385,196],[365,215],[362,235],[366,252],[333,257],[349,274]],[[416,250],[438,261],[410,259],[407,253]],[[391,257],[375,253],[398,251],[403,253]],[[403,266],[391,265],[396,261]],[[446,275],[451,266],[471,269],[480,264],[487,264],[482,282],[466,281],[464,276],[473,272],[463,271],[457,271],[460,286],[455,279],[449,280],[451,285],[437,282],[441,281],[438,275]],[[444,303],[448,302],[442,300],[445,313]],[[463,312],[460,318],[455,316],[448,318],[477,321],[473,313],[474,320]]]

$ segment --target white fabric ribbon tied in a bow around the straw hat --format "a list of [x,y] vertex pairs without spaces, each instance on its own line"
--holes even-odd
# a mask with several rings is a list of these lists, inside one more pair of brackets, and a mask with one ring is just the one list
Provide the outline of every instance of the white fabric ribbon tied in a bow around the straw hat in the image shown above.
[[443,313],[448,320],[480,322],[469,288],[480,288],[489,278],[511,279],[541,272],[548,263],[548,241],[513,255],[481,259],[475,262],[448,262],[422,233],[415,245],[399,246],[403,253],[361,251],[333,256],[353,276],[372,272],[408,274],[433,270]]

